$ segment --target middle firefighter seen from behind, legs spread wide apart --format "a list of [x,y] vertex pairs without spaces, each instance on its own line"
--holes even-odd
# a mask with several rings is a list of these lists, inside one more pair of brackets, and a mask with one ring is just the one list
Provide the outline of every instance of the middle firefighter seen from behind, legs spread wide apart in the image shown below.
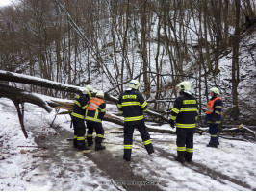
[[132,80],[129,87],[119,96],[117,108],[124,116],[124,155],[123,159],[130,161],[133,146],[133,133],[137,128],[141,133],[144,147],[148,154],[154,153],[150,135],[146,131],[143,111],[147,110],[147,102],[139,92],[141,84]]

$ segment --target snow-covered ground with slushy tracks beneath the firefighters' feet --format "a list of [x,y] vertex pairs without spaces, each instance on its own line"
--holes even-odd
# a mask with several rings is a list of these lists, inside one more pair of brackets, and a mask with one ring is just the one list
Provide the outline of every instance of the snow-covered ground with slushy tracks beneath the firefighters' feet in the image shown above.
[[[107,105],[107,110],[114,111],[115,106]],[[119,182],[129,184],[131,180],[152,181],[160,190],[172,191],[256,190],[255,143],[221,138],[218,149],[207,148],[209,134],[195,134],[193,163],[181,165],[174,160],[175,135],[150,132],[156,153],[149,156],[141,143],[140,133],[135,132],[129,171],[144,180],[117,180],[88,156],[75,151],[70,141],[60,139],[62,132],[70,132],[66,138],[72,137],[70,117],[58,115],[50,128],[54,116],[54,112],[47,113],[42,108],[25,104],[25,127],[29,135],[26,139],[13,103],[0,99],[0,190],[125,190]],[[127,163],[121,159],[120,126],[107,122],[103,125],[106,152],[114,156],[114,161]],[[168,128],[168,125],[159,127]],[[51,146],[39,148],[36,138]],[[92,149],[87,153],[100,157],[102,152]],[[106,162],[106,166],[111,163]]]

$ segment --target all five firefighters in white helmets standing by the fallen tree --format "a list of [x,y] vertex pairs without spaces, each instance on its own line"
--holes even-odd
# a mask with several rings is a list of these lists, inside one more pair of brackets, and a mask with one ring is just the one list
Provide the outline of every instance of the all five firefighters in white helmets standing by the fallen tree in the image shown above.
[[[137,129],[141,134],[143,145],[150,155],[154,153],[154,147],[151,143],[150,135],[146,130],[143,112],[147,110],[147,102],[139,91],[141,84],[137,80],[132,80],[128,88],[119,96],[117,108],[124,116],[124,142],[123,159],[130,161],[133,148],[133,133]],[[192,86],[190,82],[181,82],[177,85],[179,97],[174,102],[169,116],[171,128],[176,127],[176,145],[177,156],[175,160],[184,163],[192,161],[193,154],[193,133],[195,132],[195,123],[198,117],[198,103],[192,95]],[[74,148],[79,150],[88,150],[95,141],[95,151],[104,150],[102,145],[104,129],[102,119],[106,113],[106,104],[104,102],[104,92],[98,91],[95,97],[92,97],[93,87],[87,85],[83,91],[77,95],[74,108],[71,113],[74,126]],[[219,89],[213,87],[210,89],[211,99],[207,103],[205,124],[209,125],[211,139],[207,147],[218,148],[218,124],[221,120],[221,110],[223,101],[219,97]],[[87,126],[85,125],[85,121]],[[88,129],[86,135],[86,127]],[[93,139],[93,131],[96,137]],[[86,135],[86,136],[85,136]],[[87,144],[86,144],[87,140]]]

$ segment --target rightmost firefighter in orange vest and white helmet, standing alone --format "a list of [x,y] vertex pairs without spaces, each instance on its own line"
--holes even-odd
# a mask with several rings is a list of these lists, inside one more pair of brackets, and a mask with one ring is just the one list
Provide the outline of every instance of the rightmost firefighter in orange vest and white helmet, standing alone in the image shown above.
[[205,116],[205,123],[209,125],[211,139],[206,146],[218,148],[218,125],[220,124],[221,120],[223,100],[218,96],[219,89],[217,87],[211,88],[210,94],[212,98],[209,100],[206,106],[207,111]]

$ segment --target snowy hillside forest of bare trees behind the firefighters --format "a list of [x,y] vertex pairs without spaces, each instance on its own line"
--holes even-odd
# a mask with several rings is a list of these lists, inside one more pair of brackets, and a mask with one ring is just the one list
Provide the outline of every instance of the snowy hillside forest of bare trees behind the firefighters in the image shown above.
[[[256,105],[246,101],[255,95],[255,41],[243,40],[255,36],[254,1],[18,0],[1,9],[0,18],[3,71],[81,87],[92,84],[114,97],[138,78],[150,108],[164,115],[179,82],[192,82],[200,115],[209,89],[218,86],[226,109],[232,108],[227,122],[255,125],[251,114]],[[227,74],[220,66],[225,57],[230,59]],[[244,75],[245,64],[252,71]],[[251,78],[247,93],[239,94],[239,85]],[[74,98],[53,88],[11,82],[27,91]]]

